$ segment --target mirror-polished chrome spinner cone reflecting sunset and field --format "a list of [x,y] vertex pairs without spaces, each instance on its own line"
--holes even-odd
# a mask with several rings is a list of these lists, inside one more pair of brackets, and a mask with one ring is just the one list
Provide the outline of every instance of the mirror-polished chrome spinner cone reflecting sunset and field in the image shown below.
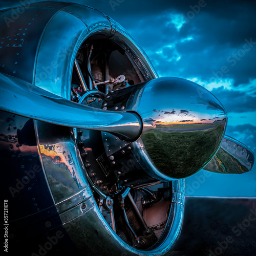
[[133,110],[144,127],[135,143],[153,177],[185,178],[214,157],[227,123],[227,113],[214,95],[174,77],[151,80],[138,95]]

